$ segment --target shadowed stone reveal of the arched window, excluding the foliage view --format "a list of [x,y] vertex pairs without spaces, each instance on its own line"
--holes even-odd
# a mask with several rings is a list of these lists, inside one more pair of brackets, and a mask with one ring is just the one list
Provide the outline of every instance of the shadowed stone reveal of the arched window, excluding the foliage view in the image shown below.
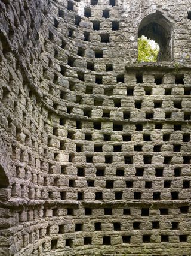
[[144,17],[138,28],[138,38],[142,35],[159,45],[157,61],[172,60],[172,24],[161,12],[156,11]]

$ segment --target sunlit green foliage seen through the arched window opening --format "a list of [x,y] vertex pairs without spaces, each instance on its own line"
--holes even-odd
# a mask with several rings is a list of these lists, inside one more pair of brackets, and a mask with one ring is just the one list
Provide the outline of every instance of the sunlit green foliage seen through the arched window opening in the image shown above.
[[156,62],[159,46],[147,37],[138,38],[138,62]]

